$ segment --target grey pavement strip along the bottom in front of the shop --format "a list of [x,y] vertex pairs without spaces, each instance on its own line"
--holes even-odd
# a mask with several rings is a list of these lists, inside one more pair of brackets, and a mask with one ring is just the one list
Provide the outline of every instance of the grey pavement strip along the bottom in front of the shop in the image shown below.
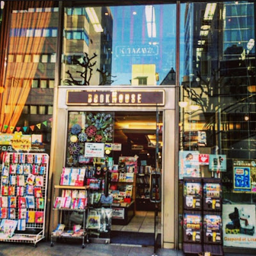
[[[151,256],[154,255],[152,246],[122,246],[120,244],[81,244],[54,243],[40,241],[36,244],[0,242],[0,256]],[[158,249],[157,256],[182,256],[182,251]],[[249,254],[244,254],[250,256]],[[252,254],[251,254],[252,255]],[[225,253],[225,256],[243,256],[241,253]]]

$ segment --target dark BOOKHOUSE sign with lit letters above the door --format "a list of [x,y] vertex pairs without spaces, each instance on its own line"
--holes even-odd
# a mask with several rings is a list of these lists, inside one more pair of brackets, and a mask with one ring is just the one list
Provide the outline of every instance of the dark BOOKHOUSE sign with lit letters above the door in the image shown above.
[[67,105],[164,106],[164,90],[68,90]]

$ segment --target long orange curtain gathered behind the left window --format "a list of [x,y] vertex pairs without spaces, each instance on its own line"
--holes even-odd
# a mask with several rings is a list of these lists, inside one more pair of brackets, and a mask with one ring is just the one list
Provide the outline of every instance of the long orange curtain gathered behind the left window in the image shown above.
[[[33,56],[42,54],[45,37],[28,36],[29,31],[22,35],[10,35],[10,29],[47,28],[51,20],[51,12],[28,12],[28,8],[51,7],[52,1],[6,1],[5,20],[3,22],[4,37],[0,47],[5,49],[1,56],[0,82],[0,132],[13,132],[22,109],[26,104],[32,81],[38,69],[39,62],[33,61]],[[15,12],[22,10],[22,12]],[[42,9],[44,10],[44,9]],[[2,33],[1,33],[2,34]],[[2,40],[1,40],[2,41]],[[0,48],[1,50],[1,48]],[[16,58],[13,59],[13,56]],[[15,62],[14,62],[14,61]],[[1,88],[0,88],[1,89]]]

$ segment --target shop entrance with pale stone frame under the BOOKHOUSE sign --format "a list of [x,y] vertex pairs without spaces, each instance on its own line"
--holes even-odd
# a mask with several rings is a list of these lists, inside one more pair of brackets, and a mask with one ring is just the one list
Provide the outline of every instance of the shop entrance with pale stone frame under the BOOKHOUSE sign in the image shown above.
[[[175,109],[174,100],[168,103],[165,103],[165,100],[167,96],[174,97],[175,93],[172,93],[174,88],[159,90],[164,92],[163,102],[151,105],[145,103],[145,106],[140,106],[140,102],[134,104],[135,106],[132,104],[122,106],[120,102],[119,105],[113,104],[113,106],[100,106],[94,102],[93,105],[96,106],[93,106],[86,102],[83,106],[81,102],[77,104],[76,99],[70,95],[66,98],[67,102],[63,100],[65,99],[63,95],[70,92],[67,87],[60,87],[59,90],[59,108],[56,109],[58,132],[55,140],[58,148],[56,156],[59,159],[56,157],[54,162],[54,170],[56,170],[54,184],[59,184],[63,166],[67,168],[85,166],[88,168],[86,185],[90,188],[91,195],[88,197],[88,205],[93,208],[93,214],[95,212],[97,214],[98,211],[95,211],[98,207],[95,203],[98,193],[94,187],[97,183],[95,178],[102,189],[99,193],[113,196],[111,232],[101,234],[96,230],[95,223],[92,226],[89,223],[87,225],[89,241],[99,243],[102,239],[108,243],[140,246],[154,246],[157,243],[159,247],[165,244],[166,247],[172,248],[175,232]],[[120,91],[115,90],[117,93]],[[136,94],[136,91],[141,92],[141,89],[133,88],[125,91],[126,94],[129,92]],[[156,92],[157,90],[154,91]],[[147,93],[149,93],[147,100],[150,100],[150,90]],[[140,97],[143,102],[143,93]],[[155,97],[154,100],[156,99]],[[68,106],[68,100],[73,100],[72,106]],[[63,125],[63,120],[67,120],[66,125]],[[90,147],[95,145],[97,148],[91,150]],[[100,145],[103,145],[101,149]],[[60,154],[60,148],[63,148],[63,154]],[[101,151],[104,152],[103,157],[100,155]],[[168,152],[167,157],[164,157],[164,152]],[[89,153],[92,157],[86,155]],[[153,192],[150,191],[151,173],[159,173],[160,177],[157,189],[154,188]],[[105,174],[106,176],[103,177],[102,175]],[[94,180],[92,181],[91,178]],[[153,194],[159,196],[158,203],[150,201],[150,195]],[[95,220],[95,216],[90,215],[90,209],[88,216],[88,221],[93,218]],[[169,228],[164,227],[164,221],[169,223]]]

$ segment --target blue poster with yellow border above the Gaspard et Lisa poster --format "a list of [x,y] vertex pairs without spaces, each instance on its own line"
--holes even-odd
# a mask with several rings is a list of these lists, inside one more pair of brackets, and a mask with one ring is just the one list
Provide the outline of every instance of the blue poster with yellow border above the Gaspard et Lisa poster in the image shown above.
[[234,192],[256,193],[256,163],[254,160],[234,159]]

